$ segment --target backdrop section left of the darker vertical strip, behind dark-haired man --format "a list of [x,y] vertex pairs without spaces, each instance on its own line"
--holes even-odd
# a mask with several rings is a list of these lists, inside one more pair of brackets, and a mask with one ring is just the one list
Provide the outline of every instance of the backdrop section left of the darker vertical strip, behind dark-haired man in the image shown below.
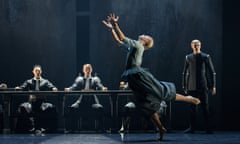
[[76,18],[73,0],[1,0],[1,82],[15,87],[43,76],[62,88],[76,75]]

